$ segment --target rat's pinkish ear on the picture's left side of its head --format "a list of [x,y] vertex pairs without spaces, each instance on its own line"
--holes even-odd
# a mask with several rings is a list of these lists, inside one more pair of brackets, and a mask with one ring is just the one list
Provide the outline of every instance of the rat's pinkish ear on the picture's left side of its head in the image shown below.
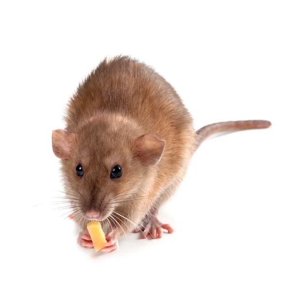
[[52,150],[60,159],[67,159],[71,154],[73,136],[66,131],[58,129],[52,131]]

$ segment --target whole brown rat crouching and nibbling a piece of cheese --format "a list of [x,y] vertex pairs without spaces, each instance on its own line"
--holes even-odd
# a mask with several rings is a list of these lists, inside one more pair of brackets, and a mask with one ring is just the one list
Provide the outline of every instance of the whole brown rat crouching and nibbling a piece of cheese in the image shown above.
[[198,146],[218,132],[268,128],[266,120],[214,123],[194,130],[183,101],[161,75],[128,56],[105,58],[67,105],[66,127],[52,132],[77,243],[93,248],[86,225],[100,221],[107,244],[141,232],[161,238],[170,224],[158,209],[178,189]]

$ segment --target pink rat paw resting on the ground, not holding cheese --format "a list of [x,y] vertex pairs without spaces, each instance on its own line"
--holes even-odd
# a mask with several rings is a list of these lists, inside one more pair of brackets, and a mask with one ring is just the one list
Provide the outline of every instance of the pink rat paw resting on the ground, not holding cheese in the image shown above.
[[169,224],[163,224],[156,216],[149,218],[149,220],[144,223],[144,227],[142,238],[147,238],[149,235],[152,239],[161,238],[163,233],[162,229],[167,230],[168,233],[174,232],[174,229]]

